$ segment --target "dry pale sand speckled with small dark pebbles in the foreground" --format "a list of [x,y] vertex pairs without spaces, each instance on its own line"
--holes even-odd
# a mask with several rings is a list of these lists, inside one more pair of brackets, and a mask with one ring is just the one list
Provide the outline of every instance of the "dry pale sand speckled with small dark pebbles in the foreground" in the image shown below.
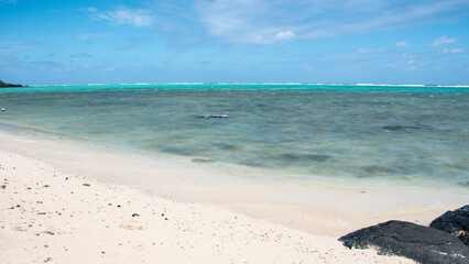
[[413,263],[0,151],[0,263]]

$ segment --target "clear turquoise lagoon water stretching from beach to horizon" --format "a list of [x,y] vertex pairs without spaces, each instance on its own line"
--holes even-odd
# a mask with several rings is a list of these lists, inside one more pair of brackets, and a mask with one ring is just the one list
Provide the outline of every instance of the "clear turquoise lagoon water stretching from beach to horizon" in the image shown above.
[[455,87],[43,86],[0,89],[0,129],[305,178],[465,184],[468,106]]

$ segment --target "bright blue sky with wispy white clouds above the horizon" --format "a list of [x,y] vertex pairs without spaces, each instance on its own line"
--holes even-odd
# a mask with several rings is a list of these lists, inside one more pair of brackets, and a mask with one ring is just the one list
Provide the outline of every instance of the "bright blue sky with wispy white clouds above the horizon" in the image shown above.
[[0,79],[469,85],[469,1],[0,0]]

